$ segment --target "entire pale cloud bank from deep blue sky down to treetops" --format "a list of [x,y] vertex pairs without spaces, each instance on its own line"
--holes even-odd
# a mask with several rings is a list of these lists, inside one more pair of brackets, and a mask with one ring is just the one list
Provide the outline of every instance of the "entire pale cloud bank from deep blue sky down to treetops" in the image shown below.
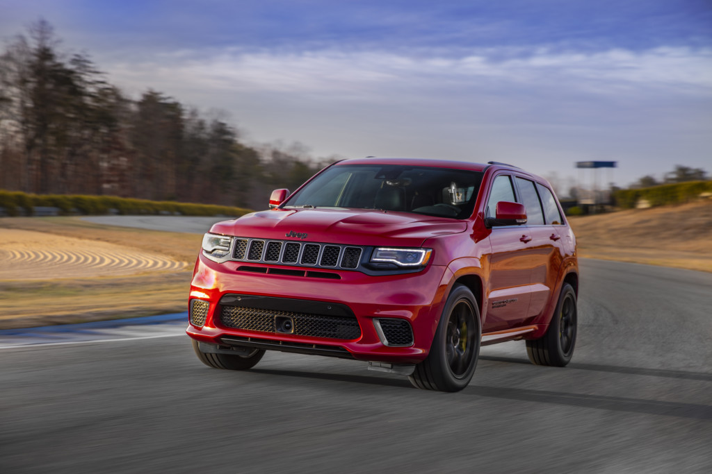
[[712,146],[712,49],[496,48],[451,58],[232,48],[106,69],[130,92],[154,87],[227,109],[248,137],[302,141],[318,156],[495,160],[539,173],[619,160],[625,182],[642,169],[704,167]]

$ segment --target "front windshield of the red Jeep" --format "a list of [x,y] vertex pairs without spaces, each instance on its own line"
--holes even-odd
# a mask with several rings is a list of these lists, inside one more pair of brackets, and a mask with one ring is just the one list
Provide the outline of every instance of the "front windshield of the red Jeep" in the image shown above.
[[483,173],[403,165],[336,165],[290,196],[285,208],[379,209],[467,219]]

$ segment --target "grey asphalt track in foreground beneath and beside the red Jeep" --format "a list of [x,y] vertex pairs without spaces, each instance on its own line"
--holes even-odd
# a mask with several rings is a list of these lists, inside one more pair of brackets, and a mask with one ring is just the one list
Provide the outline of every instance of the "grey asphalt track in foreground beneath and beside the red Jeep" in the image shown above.
[[712,472],[712,274],[581,281],[568,367],[488,346],[455,394],[280,352],[214,370],[177,327],[0,349],[0,472]]

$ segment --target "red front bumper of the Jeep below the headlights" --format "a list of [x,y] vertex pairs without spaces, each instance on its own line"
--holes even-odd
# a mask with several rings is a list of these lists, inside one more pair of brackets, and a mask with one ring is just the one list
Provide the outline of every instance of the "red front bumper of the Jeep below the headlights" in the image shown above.
[[[264,264],[260,266],[273,268]],[[444,305],[449,280],[446,267],[431,264],[417,273],[388,276],[369,276],[360,271],[334,271],[333,274],[337,277],[324,279],[246,271],[243,263],[216,263],[200,255],[193,274],[190,298],[191,301],[206,301],[208,306],[202,319],[204,323],[190,324],[187,334],[195,340],[223,348],[244,345],[282,350],[280,346],[283,349],[288,346],[289,352],[397,364],[415,364],[426,357]],[[360,331],[300,334],[276,332],[275,325],[229,327],[221,321],[221,311],[224,306],[242,304],[236,302],[241,299],[239,296],[254,296],[254,301],[266,301],[260,304],[272,310],[283,311],[286,306],[289,311],[284,317],[325,313],[327,311],[323,308],[328,306],[329,311],[336,311],[337,314],[350,313]],[[254,301],[249,306],[255,306]],[[286,305],[275,307],[275,301],[283,301]],[[322,309],[304,309],[313,307]],[[412,345],[394,347],[384,343],[379,321],[390,323],[399,320],[405,320],[411,326]]]

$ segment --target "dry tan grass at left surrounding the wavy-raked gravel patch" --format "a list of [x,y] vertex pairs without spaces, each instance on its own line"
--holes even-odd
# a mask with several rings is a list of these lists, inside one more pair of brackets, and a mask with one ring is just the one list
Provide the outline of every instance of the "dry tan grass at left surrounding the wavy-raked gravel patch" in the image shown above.
[[[2,227],[100,240],[194,262],[201,235],[105,227],[77,217],[7,217]],[[0,329],[134,318],[187,310],[192,263],[134,276],[0,281]]]

